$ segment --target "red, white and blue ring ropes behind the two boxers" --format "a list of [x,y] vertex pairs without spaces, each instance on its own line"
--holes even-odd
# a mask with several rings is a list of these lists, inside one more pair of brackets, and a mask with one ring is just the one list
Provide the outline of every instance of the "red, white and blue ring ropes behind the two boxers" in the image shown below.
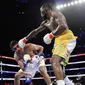
[[[83,53],[83,54],[76,54],[76,55],[71,55],[71,58],[75,58],[74,60],[77,60],[77,57],[81,57],[81,58],[83,58],[83,57],[85,57],[85,53]],[[12,75],[14,75],[16,72],[15,71],[8,71],[8,70],[3,70],[3,67],[4,66],[6,66],[6,67],[10,67],[10,68],[19,68],[19,66],[18,65],[15,65],[15,64],[7,64],[7,63],[3,63],[3,61],[2,61],[2,59],[4,60],[4,59],[8,59],[8,60],[10,60],[10,61],[15,61],[14,60],[14,58],[11,58],[11,57],[6,57],[6,56],[0,56],[0,73],[1,73],[1,78],[0,78],[0,80],[6,80],[6,81],[10,81],[10,80],[14,80],[14,77],[8,77],[8,78],[5,78],[5,77],[3,77],[3,74],[5,73],[5,75],[6,74],[12,74]],[[53,73],[53,69],[51,69],[51,64],[50,64],[50,60],[51,60],[51,58],[45,58],[45,60],[46,61],[49,61],[49,63],[48,64],[46,64],[46,67],[47,67],[47,70],[48,70],[48,73],[49,73],[49,75],[50,75],[50,78],[51,79],[55,79],[55,76],[54,75],[52,75],[52,73]],[[84,71],[85,70],[85,66],[83,66],[83,67],[75,67],[75,65],[80,65],[80,64],[85,64],[85,60],[83,60],[83,61],[79,61],[79,60],[77,60],[76,62],[74,61],[74,62],[69,62],[68,63],[68,67],[69,68],[65,68],[65,72],[67,73],[70,73],[69,75],[67,75],[69,78],[75,78],[75,77],[85,77],[85,74],[83,73],[83,74],[76,74],[75,72],[76,71]],[[73,67],[71,67],[70,68],[70,66],[73,66]],[[71,75],[71,72],[70,71],[75,71],[74,72],[74,75]],[[35,76],[34,78],[32,78],[33,80],[39,80],[39,79],[43,79],[43,77],[42,76]],[[25,78],[21,78],[21,80],[25,80]]]

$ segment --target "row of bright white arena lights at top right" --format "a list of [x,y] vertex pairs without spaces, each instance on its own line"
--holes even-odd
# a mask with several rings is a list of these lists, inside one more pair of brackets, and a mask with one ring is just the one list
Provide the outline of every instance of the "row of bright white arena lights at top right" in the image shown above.
[[58,6],[56,6],[56,8],[62,9],[62,8],[68,7],[68,6],[73,6],[73,5],[81,4],[81,3],[84,3],[84,2],[85,2],[85,0],[76,0],[76,1],[72,1],[72,2],[67,3],[67,4],[58,5]]

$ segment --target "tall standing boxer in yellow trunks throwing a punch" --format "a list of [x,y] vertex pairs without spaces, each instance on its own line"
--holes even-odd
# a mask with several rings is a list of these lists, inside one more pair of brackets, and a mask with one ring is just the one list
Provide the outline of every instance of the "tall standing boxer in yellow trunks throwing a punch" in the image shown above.
[[49,4],[44,4],[40,8],[40,12],[44,19],[43,22],[38,28],[32,30],[25,38],[21,39],[19,45],[23,46],[26,41],[39,32],[44,29],[49,29],[50,33],[47,33],[43,40],[46,44],[50,44],[52,39],[55,38],[54,47],[52,49],[52,67],[57,85],[65,85],[61,65],[66,66],[68,64],[70,54],[76,46],[77,37],[69,29],[65,16],[59,10],[53,9]]

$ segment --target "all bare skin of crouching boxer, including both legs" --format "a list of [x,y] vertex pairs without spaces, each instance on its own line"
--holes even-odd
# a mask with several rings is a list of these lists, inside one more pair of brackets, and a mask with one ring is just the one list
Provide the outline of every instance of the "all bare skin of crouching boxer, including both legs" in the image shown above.
[[[14,46],[16,48],[15,53],[14,53],[14,58],[17,61],[18,65],[22,69],[22,71],[25,71],[25,67],[23,64],[23,56],[25,54],[29,54],[32,60],[32,57],[36,55],[36,53],[43,53],[43,47],[40,45],[28,43],[25,44],[25,47],[22,49],[17,44]],[[32,61],[29,61],[28,63],[32,63]],[[45,65],[39,67],[40,74],[43,76],[45,82],[47,85],[51,84],[51,79],[47,73]],[[20,85],[20,78],[26,76],[23,72],[18,71],[15,74],[15,80],[14,80],[14,85]]]

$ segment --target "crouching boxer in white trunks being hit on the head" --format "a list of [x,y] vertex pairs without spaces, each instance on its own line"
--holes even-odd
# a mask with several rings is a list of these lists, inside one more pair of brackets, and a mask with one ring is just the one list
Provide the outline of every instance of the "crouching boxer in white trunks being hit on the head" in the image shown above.
[[28,43],[22,48],[16,41],[11,41],[10,48],[15,52],[14,59],[20,66],[20,70],[15,74],[14,85],[20,85],[20,78],[23,76],[34,77],[36,71],[41,73],[47,85],[52,85],[45,67],[42,46]]

